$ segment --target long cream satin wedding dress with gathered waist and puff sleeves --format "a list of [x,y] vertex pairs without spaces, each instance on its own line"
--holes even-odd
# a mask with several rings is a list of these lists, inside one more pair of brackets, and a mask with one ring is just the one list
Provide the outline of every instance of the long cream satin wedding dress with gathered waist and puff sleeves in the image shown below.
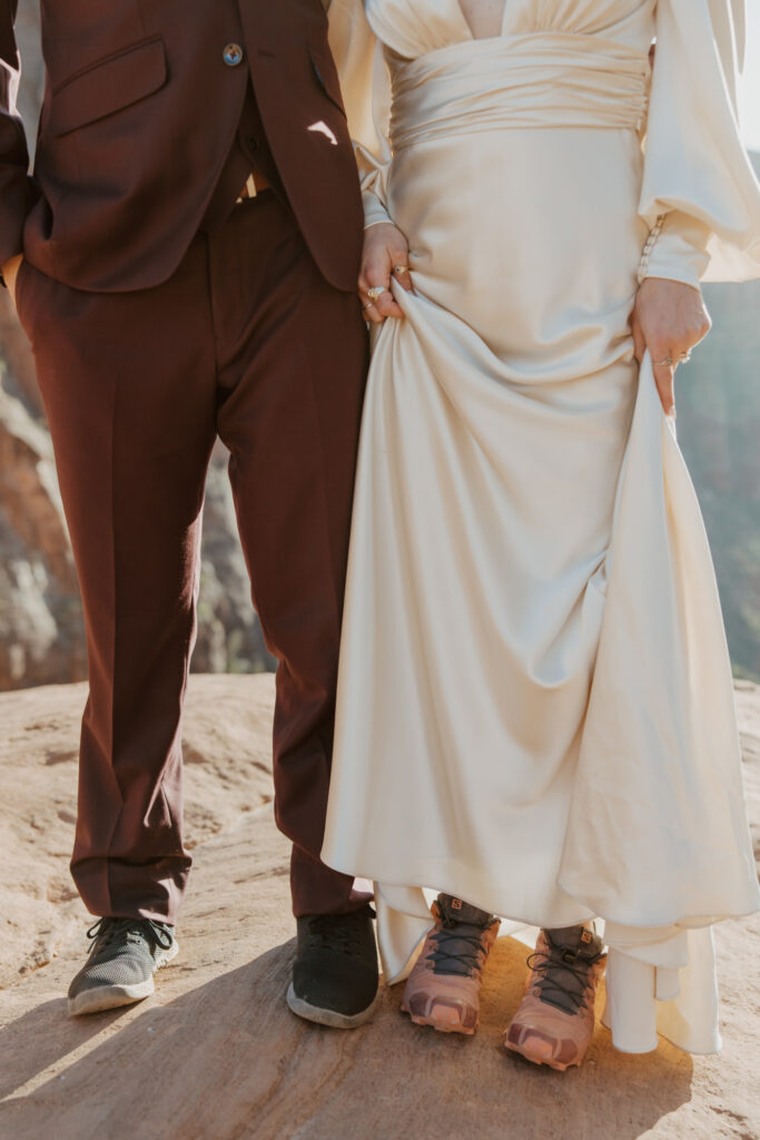
[[702,312],[701,278],[760,276],[742,17],[741,0],[329,8],[368,249],[390,235],[365,301],[394,319],[367,393],[322,857],[375,880],[391,983],[430,931],[425,890],[508,931],[602,920],[605,1023],[632,1052],[657,1032],[719,1048],[711,927],[760,902],[657,359],[703,334],[679,318]]

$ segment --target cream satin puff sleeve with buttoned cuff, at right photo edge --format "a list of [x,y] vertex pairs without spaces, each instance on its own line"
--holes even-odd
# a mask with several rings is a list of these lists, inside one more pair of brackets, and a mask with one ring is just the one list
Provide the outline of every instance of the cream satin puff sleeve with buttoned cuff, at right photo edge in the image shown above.
[[760,277],[760,186],[736,111],[743,56],[744,0],[659,0],[639,279]]

